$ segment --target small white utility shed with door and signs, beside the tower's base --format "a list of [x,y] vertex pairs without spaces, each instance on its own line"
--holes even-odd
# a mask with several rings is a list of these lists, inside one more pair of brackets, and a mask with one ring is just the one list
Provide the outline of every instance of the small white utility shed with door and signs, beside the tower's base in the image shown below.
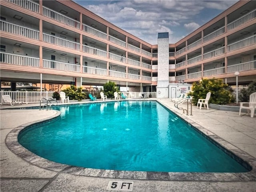
[[176,98],[180,94],[186,94],[191,91],[192,84],[188,83],[170,83],[169,84],[169,98]]

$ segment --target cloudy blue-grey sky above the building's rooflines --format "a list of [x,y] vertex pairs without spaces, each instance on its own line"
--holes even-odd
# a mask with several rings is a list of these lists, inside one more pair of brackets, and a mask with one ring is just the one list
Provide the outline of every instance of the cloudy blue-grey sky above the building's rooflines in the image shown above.
[[176,43],[237,0],[74,0],[94,14],[152,44],[159,32]]

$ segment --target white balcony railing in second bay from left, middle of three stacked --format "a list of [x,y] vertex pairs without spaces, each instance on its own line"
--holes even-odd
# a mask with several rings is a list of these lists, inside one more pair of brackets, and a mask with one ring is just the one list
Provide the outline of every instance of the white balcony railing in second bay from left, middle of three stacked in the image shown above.
[[43,33],[43,41],[51,44],[55,44],[58,46],[74,49],[74,50],[80,50],[80,43],[62,39],[60,37],[56,37],[54,35],[49,35],[46,33]]

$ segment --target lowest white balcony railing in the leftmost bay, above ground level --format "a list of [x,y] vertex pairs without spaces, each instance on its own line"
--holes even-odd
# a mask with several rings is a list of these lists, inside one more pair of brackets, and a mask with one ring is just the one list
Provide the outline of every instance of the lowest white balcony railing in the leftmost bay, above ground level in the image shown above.
[[22,66],[39,67],[39,58],[10,54],[6,52],[0,52],[0,62]]

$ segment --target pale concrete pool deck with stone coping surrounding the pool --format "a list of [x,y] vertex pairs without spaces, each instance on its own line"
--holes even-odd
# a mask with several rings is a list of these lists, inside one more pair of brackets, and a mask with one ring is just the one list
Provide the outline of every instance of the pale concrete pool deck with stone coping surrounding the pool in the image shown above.
[[[132,192],[256,192],[256,114],[192,107],[192,116],[174,108],[170,99],[157,99],[189,124],[216,140],[253,167],[246,173],[146,173],[90,170],[56,164],[17,144],[18,132],[41,120],[57,117],[56,110],[15,109],[39,106],[1,106],[1,192],[110,192],[110,181],[132,182]],[[89,171],[90,170],[90,171]],[[88,173],[90,172],[90,173]],[[101,172],[101,173],[100,173]]]

